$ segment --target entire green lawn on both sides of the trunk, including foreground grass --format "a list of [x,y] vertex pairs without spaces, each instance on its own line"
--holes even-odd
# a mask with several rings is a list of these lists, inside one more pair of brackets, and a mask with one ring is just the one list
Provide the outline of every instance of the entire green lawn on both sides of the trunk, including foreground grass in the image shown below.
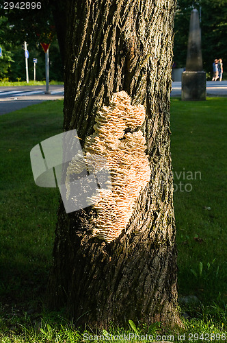
[[[74,324],[64,319],[64,309],[53,313],[42,305],[51,266],[59,192],[35,185],[29,152],[40,141],[62,132],[62,108],[61,100],[44,102],[0,117],[3,343],[84,339]],[[185,333],[189,338],[189,333],[207,333],[211,340],[217,338],[213,342],[225,342],[222,338],[226,332],[226,108],[227,99],[217,97],[206,102],[172,99],[171,106],[178,293],[180,298],[193,295],[200,300],[181,305],[181,313],[189,316],[183,319],[185,329],[181,335]],[[166,333],[160,323],[149,328],[135,324],[137,328],[129,325],[131,333],[149,333],[154,337]],[[96,334],[90,328],[88,331]],[[108,332],[129,335],[129,331],[110,327]],[[202,342],[196,338],[193,336],[190,342]]]

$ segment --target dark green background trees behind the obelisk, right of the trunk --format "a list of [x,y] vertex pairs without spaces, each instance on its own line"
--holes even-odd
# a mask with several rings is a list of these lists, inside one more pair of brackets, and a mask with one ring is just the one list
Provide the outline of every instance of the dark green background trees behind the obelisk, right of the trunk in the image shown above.
[[204,70],[212,75],[215,58],[227,60],[225,37],[227,34],[226,0],[178,0],[174,23],[174,62],[176,67],[185,67],[187,40],[189,34],[190,12],[193,8],[200,11],[202,32],[202,58]]

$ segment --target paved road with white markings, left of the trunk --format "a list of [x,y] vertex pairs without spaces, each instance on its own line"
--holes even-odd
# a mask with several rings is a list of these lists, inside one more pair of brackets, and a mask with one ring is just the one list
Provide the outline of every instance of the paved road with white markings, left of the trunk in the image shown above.
[[45,94],[46,86],[0,87],[0,115],[19,110],[30,105],[40,104],[46,100],[63,99],[64,88],[51,85],[51,94]]

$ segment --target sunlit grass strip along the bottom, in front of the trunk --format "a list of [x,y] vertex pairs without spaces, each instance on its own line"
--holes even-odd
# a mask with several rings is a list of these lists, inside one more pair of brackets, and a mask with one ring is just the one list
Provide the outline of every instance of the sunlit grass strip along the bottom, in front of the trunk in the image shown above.
[[[134,324],[134,323],[133,323]],[[176,331],[167,329],[159,322],[150,326],[142,323],[138,324],[137,331],[124,329],[122,327],[110,326],[108,331],[105,329],[83,330],[76,329],[73,324],[56,316],[55,320],[42,320],[38,327],[34,327],[31,321],[27,320],[26,325],[22,324],[14,327],[10,332],[1,331],[1,343],[77,343],[77,342],[226,342],[226,331],[224,323],[218,326],[212,320],[207,322],[200,320],[183,320],[185,329]],[[190,336],[189,336],[190,335]],[[193,340],[193,335],[195,339]],[[206,335],[206,340],[204,340]],[[181,337],[179,337],[181,336]],[[185,339],[183,339],[185,337]],[[202,339],[203,337],[203,339]],[[141,340],[139,340],[141,338]],[[190,338],[187,340],[187,338]],[[211,340],[208,340],[211,338]],[[161,341],[163,342],[163,341]]]

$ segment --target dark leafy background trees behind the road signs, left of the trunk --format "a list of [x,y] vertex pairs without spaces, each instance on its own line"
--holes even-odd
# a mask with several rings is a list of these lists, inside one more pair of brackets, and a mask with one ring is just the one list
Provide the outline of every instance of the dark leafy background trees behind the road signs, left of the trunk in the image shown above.
[[[64,49],[62,48],[62,55],[60,54],[59,47],[62,47],[62,38],[64,36],[64,3],[57,3],[55,8],[49,3],[49,1],[42,1],[42,7],[35,10],[20,10],[14,8],[14,10],[5,10],[3,4],[0,5],[0,30],[2,32],[0,36],[0,45],[4,47],[3,56],[11,56],[11,60],[8,60],[7,68],[2,68],[4,73],[1,73],[1,79],[9,78],[11,81],[25,80],[25,54],[22,49],[22,44],[26,40],[29,50],[29,78],[32,79],[33,75],[33,58],[38,58],[38,64],[36,66],[36,80],[44,80],[45,78],[45,58],[44,52],[40,43],[51,43],[49,50],[50,56],[50,78],[51,80],[63,79],[63,64],[61,56],[63,56]],[[60,7],[60,8],[59,8]],[[61,21],[53,21],[53,12],[61,11]],[[62,23],[62,26],[59,24]],[[62,29],[61,35],[58,34]],[[57,31],[57,34],[56,34]],[[57,38],[59,38],[57,43]],[[6,48],[9,54],[6,54]],[[5,60],[6,62],[6,60]],[[7,73],[6,73],[7,70]]]

